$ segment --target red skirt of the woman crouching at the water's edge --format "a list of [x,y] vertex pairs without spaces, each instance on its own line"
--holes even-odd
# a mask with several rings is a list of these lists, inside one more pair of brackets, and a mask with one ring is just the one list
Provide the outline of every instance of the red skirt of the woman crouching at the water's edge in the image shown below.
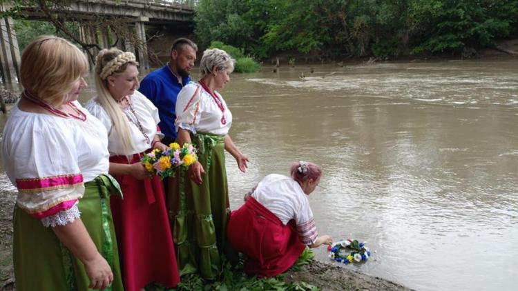
[[285,272],[306,248],[293,220],[282,225],[275,214],[252,197],[232,212],[227,236],[231,245],[247,257],[244,271],[258,277]]

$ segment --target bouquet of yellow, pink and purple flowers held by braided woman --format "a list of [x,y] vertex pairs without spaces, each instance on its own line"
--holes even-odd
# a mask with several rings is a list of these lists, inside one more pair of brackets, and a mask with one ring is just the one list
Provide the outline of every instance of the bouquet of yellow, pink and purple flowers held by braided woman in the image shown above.
[[150,174],[164,179],[174,176],[175,171],[180,167],[188,168],[197,159],[196,149],[190,143],[184,143],[182,147],[178,143],[171,143],[167,150],[163,152],[157,149],[152,150],[144,154],[140,161]]

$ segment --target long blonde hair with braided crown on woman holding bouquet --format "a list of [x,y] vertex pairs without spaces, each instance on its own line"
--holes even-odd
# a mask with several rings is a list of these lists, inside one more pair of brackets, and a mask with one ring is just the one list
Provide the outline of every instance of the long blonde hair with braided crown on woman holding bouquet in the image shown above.
[[131,152],[135,148],[133,139],[131,139],[130,121],[108,90],[108,77],[122,74],[128,68],[128,65],[138,66],[137,61],[135,61],[135,54],[123,52],[117,48],[101,50],[95,61],[97,102],[111,118],[113,128],[119,133],[124,152]]

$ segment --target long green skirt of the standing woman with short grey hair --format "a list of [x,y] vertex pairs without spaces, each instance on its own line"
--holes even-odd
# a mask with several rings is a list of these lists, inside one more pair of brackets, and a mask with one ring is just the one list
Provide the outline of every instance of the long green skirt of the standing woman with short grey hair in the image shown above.
[[193,183],[186,170],[178,170],[169,179],[171,232],[180,275],[199,272],[205,279],[216,279],[223,256],[230,260],[237,257],[226,234],[230,208],[224,135],[198,133],[193,144],[205,170],[203,183]]

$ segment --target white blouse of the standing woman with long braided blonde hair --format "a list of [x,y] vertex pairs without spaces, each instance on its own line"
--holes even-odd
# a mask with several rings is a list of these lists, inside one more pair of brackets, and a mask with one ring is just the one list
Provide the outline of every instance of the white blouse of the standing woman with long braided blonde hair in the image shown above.
[[[122,111],[126,114],[130,121],[131,138],[133,139],[133,145],[135,148],[131,152],[124,152],[122,147],[121,139],[119,134],[114,130],[113,121],[111,120],[108,112],[97,103],[95,99],[90,99],[85,105],[86,109],[90,111],[95,117],[97,117],[104,128],[108,130],[108,151],[111,156],[138,154],[151,148],[151,142],[156,134],[163,134],[157,130],[157,124],[160,122],[158,117],[158,109],[149,101],[141,92],[135,91],[133,95],[129,96],[131,102],[130,106],[126,103],[126,106],[122,108]],[[142,126],[143,132],[149,138],[149,143],[142,134],[139,123]]]

